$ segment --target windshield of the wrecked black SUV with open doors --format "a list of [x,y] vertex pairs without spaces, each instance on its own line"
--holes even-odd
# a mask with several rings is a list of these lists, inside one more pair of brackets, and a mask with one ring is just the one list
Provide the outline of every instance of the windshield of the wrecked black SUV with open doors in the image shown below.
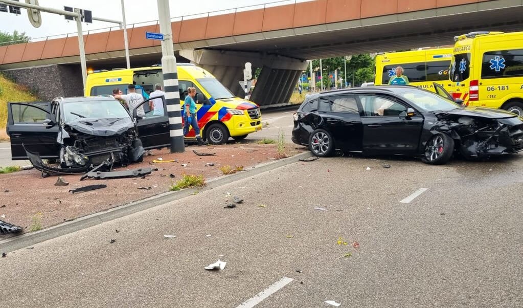
[[63,104],[63,108],[65,122],[71,122],[78,118],[130,117],[125,107],[116,100],[71,102]]

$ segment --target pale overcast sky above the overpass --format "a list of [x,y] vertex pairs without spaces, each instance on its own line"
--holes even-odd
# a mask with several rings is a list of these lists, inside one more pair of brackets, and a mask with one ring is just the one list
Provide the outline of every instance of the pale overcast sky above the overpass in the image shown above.
[[[21,0],[21,2],[25,2]],[[170,16],[187,16],[192,14],[208,13],[217,10],[226,10],[250,5],[260,5],[275,2],[275,0],[170,0]],[[274,5],[293,3],[294,1],[281,2]],[[298,1],[301,2],[301,1]],[[122,19],[120,0],[39,0],[40,6],[63,9],[65,6],[77,7],[91,10],[93,17],[108,18],[113,20]],[[134,24],[143,21],[158,19],[158,9],[156,0],[125,0],[126,23]],[[228,13],[228,12],[223,12]],[[67,21],[64,16],[41,13],[42,25],[39,28],[31,26],[27,17],[26,10],[22,8],[21,15],[0,12],[0,30],[13,32],[26,32],[31,38],[61,35],[76,32],[76,23]],[[115,24],[93,21],[93,24],[83,23],[83,30],[94,30],[99,28],[118,26]]]

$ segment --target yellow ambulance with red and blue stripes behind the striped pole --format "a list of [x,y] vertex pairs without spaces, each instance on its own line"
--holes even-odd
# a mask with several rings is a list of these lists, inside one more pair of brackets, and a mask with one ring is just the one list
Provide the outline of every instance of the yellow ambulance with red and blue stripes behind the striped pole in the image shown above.
[[[127,86],[134,84],[137,93],[142,94],[144,99],[147,100],[148,94],[154,91],[153,88],[156,83],[163,84],[160,66],[94,71],[87,75],[85,96],[112,95],[114,89],[119,89],[126,94]],[[257,104],[235,97],[208,71],[194,64],[178,63],[180,108],[187,95],[188,87],[196,88],[196,113],[198,125],[201,129],[200,134],[210,144],[223,144],[229,137],[234,140],[242,140],[248,134],[261,130],[261,113]],[[151,124],[158,126],[150,126],[151,131],[157,131],[159,135],[168,137],[167,108],[165,100],[163,101],[162,113],[151,111],[149,103],[145,102],[142,105],[145,117],[139,119],[139,121],[151,122]],[[181,112],[183,115],[184,108],[181,108]],[[146,127],[144,126],[145,130]],[[151,133],[151,131],[144,131],[143,133]],[[196,138],[192,127],[185,137],[188,139]]]

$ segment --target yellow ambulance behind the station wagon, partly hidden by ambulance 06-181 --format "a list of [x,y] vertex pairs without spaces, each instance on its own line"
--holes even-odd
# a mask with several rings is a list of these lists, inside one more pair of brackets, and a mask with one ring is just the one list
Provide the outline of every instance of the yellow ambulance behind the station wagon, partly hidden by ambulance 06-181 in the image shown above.
[[435,82],[450,91],[451,57],[452,48],[379,53],[376,56],[374,85],[389,84],[390,78],[396,74],[396,67],[401,66],[410,85],[435,92]]

